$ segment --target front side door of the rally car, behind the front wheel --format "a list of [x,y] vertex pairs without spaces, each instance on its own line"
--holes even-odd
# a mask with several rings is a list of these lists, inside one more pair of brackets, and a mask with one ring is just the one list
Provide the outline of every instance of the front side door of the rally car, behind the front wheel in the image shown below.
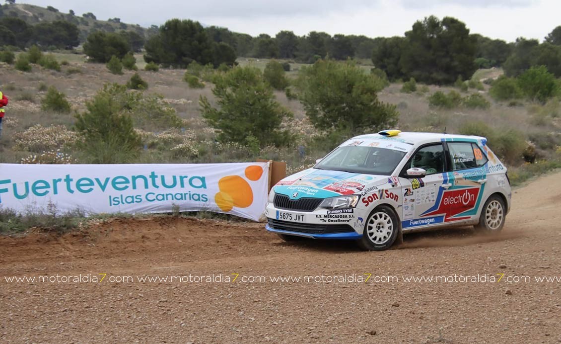
[[[411,178],[406,171],[421,168],[426,175]],[[447,160],[442,142],[424,144],[407,161],[400,176],[403,185],[403,230],[443,223],[445,207],[440,205],[442,194],[452,187],[448,180]],[[402,179],[403,180],[403,179]]]

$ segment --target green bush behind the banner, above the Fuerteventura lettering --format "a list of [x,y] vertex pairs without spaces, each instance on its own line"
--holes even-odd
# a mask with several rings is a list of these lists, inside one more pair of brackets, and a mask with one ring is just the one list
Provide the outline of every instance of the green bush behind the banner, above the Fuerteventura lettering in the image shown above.
[[128,162],[140,152],[141,140],[127,110],[125,91],[123,85],[107,84],[86,102],[86,111],[76,115],[75,128],[84,137],[80,148],[91,162]]

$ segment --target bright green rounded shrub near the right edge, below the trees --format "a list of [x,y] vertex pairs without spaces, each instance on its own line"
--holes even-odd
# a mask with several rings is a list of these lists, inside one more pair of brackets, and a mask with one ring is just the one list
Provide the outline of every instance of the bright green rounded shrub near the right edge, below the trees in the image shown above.
[[518,87],[531,100],[545,103],[558,92],[555,75],[548,72],[545,66],[530,67],[517,78]]

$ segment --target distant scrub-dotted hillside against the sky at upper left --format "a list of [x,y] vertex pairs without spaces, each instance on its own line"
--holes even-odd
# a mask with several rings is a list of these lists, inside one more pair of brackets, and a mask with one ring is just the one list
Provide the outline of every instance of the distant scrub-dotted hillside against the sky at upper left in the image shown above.
[[52,22],[55,20],[67,20],[73,22],[80,30],[80,42],[84,42],[88,34],[95,30],[118,32],[121,30],[134,31],[142,37],[148,37],[155,28],[146,29],[138,24],[126,24],[118,18],[110,21],[98,20],[92,13],[62,13],[54,7],[40,7],[25,3],[4,4],[1,7],[1,16],[18,17],[25,20],[27,24],[39,22]]

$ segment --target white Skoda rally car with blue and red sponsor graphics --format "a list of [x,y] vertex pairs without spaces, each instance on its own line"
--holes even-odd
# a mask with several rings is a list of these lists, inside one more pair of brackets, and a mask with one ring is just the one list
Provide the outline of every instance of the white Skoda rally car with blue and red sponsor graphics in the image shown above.
[[353,137],[278,182],[265,215],[266,229],[286,241],[356,239],[385,250],[417,230],[499,231],[510,207],[507,169],[485,138],[385,130]]

